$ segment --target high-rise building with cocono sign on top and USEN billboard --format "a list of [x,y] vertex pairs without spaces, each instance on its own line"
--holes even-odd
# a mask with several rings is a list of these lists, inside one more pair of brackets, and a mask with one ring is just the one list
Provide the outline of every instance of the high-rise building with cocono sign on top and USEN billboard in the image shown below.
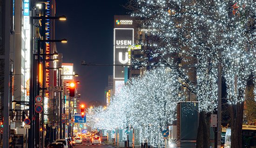
[[114,94],[124,86],[125,75],[128,74],[128,46],[135,43],[135,34],[136,23],[130,16],[114,16]]

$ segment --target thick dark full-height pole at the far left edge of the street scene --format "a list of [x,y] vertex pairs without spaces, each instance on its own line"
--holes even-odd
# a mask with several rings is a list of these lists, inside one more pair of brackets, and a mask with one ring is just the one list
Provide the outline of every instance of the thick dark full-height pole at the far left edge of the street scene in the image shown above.
[[[10,103],[10,31],[11,31],[11,3],[3,1],[3,34],[4,34],[4,134],[3,148],[9,148],[9,103]],[[13,23],[13,22],[12,22]]]

